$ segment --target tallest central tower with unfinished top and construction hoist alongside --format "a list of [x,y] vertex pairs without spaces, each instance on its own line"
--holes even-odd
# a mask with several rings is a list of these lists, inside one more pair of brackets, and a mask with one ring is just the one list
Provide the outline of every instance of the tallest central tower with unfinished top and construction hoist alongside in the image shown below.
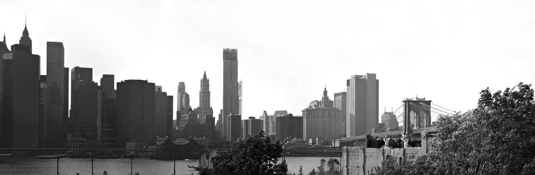
[[[238,50],[223,49],[223,135],[227,133],[226,116],[239,113],[238,106]],[[241,118],[240,118],[241,121]],[[227,138],[228,139],[228,138]]]

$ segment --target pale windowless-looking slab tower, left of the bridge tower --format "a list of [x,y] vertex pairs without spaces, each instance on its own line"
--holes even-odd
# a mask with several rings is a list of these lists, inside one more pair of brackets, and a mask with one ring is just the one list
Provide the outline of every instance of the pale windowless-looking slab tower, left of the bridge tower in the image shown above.
[[379,124],[379,80],[375,74],[347,80],[347,137],[362,136]]

